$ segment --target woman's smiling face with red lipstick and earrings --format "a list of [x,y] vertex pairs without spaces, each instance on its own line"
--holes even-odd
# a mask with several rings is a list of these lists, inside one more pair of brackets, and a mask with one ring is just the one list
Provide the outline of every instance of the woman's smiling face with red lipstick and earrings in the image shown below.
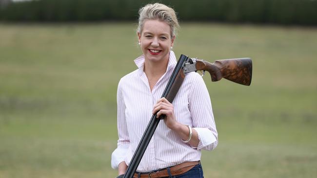
[[159,20],[146,20],[138,37],[145,60],[168,61],[175,36],[171,37],[171,27],[167,23]]

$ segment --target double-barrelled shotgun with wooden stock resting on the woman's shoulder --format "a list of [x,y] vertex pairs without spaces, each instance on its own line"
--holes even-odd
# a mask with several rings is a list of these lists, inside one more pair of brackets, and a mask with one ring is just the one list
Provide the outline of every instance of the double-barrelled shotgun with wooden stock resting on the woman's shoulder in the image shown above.
[[[184,81],[186,73],[194,71],[202,71],[202,76],[205,71],[208,71],[211,75],[211,81],[213,82],[225,78],[241,85],[250,86],[252,61],[250,58],[238,58],[216,60],[214,63],[209,63],[198,58],[188,58],[186,55],[181,54],[161,98],[165,97],[172,103],[178,89]],[[123,176],[121,175],[120,178],[133,178],[159,121],[164,119],[165,116],[160,115],[159,119],[156,117],[157,113],[152,115],[125,174]]]

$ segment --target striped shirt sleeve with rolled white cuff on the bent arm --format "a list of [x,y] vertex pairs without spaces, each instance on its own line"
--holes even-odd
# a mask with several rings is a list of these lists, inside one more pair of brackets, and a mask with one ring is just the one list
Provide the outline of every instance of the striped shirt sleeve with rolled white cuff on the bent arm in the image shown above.
[[213,150],[218,145],[218,132],[210,96],[199,74],[194,77],[192,82],[189,109],[193,120],[193,128],[198,133],[197,149]]

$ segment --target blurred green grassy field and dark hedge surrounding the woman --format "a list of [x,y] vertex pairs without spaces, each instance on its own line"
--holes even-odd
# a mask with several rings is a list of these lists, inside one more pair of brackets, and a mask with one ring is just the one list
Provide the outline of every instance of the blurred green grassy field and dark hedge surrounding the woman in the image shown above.
[[[119,79],[137,69],[153,0],[0,0],[0,178],[113,178]],[[160,0],[174,52],[251,57],[251,86],[211,82],[205,178],[317,177],[317,1]]]

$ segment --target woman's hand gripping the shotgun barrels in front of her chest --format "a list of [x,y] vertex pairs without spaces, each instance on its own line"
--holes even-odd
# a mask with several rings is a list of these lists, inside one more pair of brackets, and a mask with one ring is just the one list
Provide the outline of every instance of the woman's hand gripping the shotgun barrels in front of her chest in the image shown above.
[[174,106],[166,98],[163,97],[158,100],[158,102],[154,106],[153,114],[155,114],[156,112],[158,112],[157,118],[161,114],[166,115],[164,122],[168,128],[174,129],[178,125],[174,114]]

